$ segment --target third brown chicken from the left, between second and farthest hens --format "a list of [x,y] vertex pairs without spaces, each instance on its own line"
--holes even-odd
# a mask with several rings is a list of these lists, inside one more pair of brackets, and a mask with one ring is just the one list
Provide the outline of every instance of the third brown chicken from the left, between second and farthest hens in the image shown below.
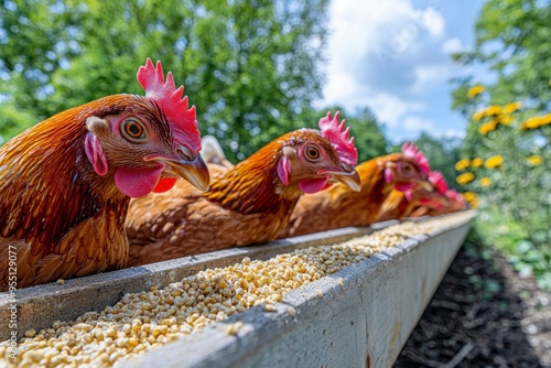
[[391,153],[366,161],[356,171],[361,191],[344,185],[303,196],[289,226],[279,238],[324,231],[347,226],[372,224],[392,188],[407,191],[415,185],[431,188],[428,182],[429,162],[413,144],[403,144],[401,153]]

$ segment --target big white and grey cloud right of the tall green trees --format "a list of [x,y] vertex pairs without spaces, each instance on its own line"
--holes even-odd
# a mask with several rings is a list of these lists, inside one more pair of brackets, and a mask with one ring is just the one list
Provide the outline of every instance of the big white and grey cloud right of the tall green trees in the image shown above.
[[327,90],[345,74],[372,90],[399,87],[407,95],[415,82],[412,66],[444,59],[445,22],[432,8],[413,9],[410,0],[333,0],[329,10]]

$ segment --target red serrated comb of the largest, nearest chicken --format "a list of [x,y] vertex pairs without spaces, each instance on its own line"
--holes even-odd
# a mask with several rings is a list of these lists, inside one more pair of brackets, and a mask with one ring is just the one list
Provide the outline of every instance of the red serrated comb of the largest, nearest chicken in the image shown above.
[[145,97],[155,101],[172,125],[174,140],[185,145],[194,153],[201,151],[201,133],[198,130],[197,115],[195,106],[187,109],[187,96],[182,98],[184,86],[177,89],[174,86],[172,72],[166,75],[161,62],[156,62],[156,67],[148,57],[145,66],[138,69],[138,82],[145,90]]

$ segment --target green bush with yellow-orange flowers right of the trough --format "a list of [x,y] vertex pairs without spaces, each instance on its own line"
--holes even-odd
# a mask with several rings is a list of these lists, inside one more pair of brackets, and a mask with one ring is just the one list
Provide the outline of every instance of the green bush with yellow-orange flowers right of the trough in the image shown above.
[[[456,181],[471,206],[480,207],[480,218],[491,223],[489,236],[500,239],[495,243],[551,288],[551,113],[527,108],[529,102],[489,105],[485,95],[483,86],[467,93],[469,156],[455,164]],[[530,261],[522,256],[528,253]]]

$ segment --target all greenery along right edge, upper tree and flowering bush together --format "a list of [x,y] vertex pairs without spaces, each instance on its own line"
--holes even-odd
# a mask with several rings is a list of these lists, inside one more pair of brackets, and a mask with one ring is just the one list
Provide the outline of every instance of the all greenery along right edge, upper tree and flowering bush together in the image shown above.
[[[454,58],[483,64],[497,78],[476,96],[467,96],[477,84],[472,76],[455,80],[453,107],[469,120],[462,158],[499,155],[503,164],[467,167],[475,178],[465,188],[480,196],[485,242],[551,288],[551,3],[489,0],[476,36],[474,50]],[[505,111],[515,101],[525,108]]]

